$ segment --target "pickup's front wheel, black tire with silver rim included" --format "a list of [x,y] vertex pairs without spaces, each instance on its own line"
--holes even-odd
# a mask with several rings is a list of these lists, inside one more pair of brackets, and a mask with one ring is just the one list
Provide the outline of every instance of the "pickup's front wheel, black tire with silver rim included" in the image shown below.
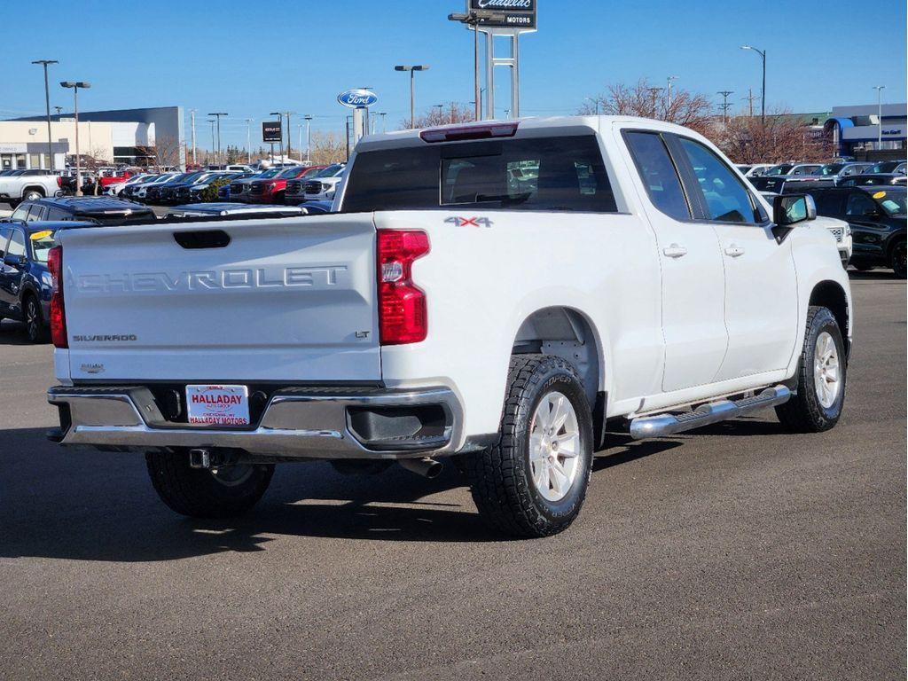
[[842,331],[828,308],[807,311],[804,350],[798,360],[797,391],[775,408],[793,432],[816,433],[834,427],[845,400],[845,350]]

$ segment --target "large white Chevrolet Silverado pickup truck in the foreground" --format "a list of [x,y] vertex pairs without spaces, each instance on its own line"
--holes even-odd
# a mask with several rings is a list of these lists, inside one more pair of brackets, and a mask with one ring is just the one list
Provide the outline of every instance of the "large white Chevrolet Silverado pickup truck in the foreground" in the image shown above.
[[201,517],[276,463],[456,457],[493,527],[550,535],[607,431],[835,425],[848,279],[774,203],[696,133],[589,116],[366,137],[337,214],[61,230],[52,437],[144,451]]

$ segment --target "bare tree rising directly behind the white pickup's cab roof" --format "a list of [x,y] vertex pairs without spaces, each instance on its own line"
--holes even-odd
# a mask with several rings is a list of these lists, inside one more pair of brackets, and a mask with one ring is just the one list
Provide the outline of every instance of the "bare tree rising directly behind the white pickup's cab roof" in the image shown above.
[[584,104],[579,114],[589,115],[598,111],[607,115],[655,118],[684,125],[703,134],[710,133],[713,127],[712,103],[706,95],[675,88],[669,104],[665,89],[654,87],[646,78],[633,85],[609,85],[605,94],[589,99],[593,102]]

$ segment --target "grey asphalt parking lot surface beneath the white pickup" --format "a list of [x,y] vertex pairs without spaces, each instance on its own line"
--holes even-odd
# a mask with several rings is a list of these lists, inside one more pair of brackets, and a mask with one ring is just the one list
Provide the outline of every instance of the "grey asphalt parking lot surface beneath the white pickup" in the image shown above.
[[854,275],[844,417],[616,436],[581,518],[501,541],[456,471],[279,467],[235,522],[61,449],[49,346],[0,325],[0,677],[905,676],[905,283]]

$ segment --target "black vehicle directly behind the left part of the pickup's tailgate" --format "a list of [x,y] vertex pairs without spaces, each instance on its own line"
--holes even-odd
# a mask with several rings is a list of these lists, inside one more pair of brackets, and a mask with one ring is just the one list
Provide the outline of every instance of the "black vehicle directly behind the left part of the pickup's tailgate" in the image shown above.
[[112,196],[59,196],[24,201],[16,206],[10,220],[22,222],[81,221],[110,224],[136,222],[155,217],[154,211],[141,203],[123,201]]

